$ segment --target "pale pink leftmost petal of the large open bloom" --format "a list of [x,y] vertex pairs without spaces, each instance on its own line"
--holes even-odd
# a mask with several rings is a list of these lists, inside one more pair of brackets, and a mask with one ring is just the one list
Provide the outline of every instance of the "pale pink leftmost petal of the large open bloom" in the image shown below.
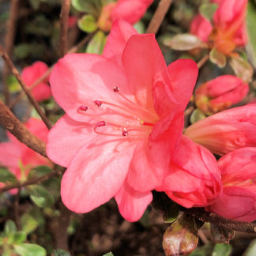
[[95,137],[92,126],[63,115],[49,132],[47,156],[56,164],[67,167],[77,152]]

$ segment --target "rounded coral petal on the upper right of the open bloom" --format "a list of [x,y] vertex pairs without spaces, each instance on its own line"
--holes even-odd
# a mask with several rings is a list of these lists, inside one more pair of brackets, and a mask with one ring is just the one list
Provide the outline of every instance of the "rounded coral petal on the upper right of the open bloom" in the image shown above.
[[178,59],[168,66],[171,86],[180,111],[188,104],[198,78],[197,63],[191,59]]

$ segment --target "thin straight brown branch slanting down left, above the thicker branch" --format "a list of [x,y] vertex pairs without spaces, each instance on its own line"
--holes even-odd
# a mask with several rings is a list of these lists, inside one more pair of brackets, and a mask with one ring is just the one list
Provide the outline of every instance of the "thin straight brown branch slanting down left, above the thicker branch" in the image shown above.
[[9,58],[9,55],[7,55],[6,51],[2,48],[2,45],[0,44],[0,55],[2,58],[5,60],[7,66],[9,67],[9,70],[13,73],[13,75],[17,78],[17,81],[19,81],[21,87],[23,88],[24,92],[28,96],[28,99],[32,103],[32,105],[36,108],[37,113],[40,115],[41,119],[45,123],[48,129],[51,129],[51,122],[49,119],[47,119],[47,116],[44,115],[43,110],[41,109],[40,105],[38,102],[35,100],[35,98],[32,96],[31,92],[28,90],[27,85],[24,84],[24,81],[21,79],[21,75],[17,68],[13,65],[13,62]]

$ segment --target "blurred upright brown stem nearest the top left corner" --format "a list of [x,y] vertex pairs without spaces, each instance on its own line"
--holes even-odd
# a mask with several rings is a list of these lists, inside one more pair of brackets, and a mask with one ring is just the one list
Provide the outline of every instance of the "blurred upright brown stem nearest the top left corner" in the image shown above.
[[[6,52],[8,55],[10,55],[11,51],[13,50],[13,40],[16,32],[16,21],[18,16],[18,6],[19,6],[19,0],[11,1],[10,9],[9,9],[9,19],[7,21],[7,28],[6,28],[6,37],[5,37],[5,46],[6,46]],[[8,77],[8,67],[5,64],[2,70],[2,78],[4,82],[4,95],[6,99],[6,104],[9,104],[10,94],[9,94],[9,88],[7,85],[7,77]]]

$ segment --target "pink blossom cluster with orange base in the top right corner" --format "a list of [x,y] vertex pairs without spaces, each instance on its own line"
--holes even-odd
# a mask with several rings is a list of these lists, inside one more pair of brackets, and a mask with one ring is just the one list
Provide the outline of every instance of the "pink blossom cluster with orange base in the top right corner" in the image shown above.
[[247,0],[222,0],[213,16],[213,24],[205,17],[197,16],[190,24],[190,32],[209,47],[215,47],[224,55],[235,55],[235,47],[247,44]]

